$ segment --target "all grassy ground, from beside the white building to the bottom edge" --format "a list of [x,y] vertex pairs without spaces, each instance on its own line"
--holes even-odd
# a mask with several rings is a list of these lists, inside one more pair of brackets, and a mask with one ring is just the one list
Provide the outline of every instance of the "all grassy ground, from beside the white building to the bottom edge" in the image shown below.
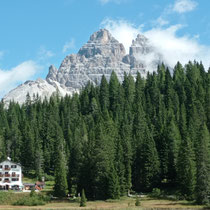
[[[24,177],[23,182],[35,183],[35,178]],[[53,191],[54,181],[46,181],[46,187],[41,191],[41,194],[51,194]],[[24,197],[29,196],[29,193],[14,193],[14,192],[0,192],[0,209],[85,209],[85,210],[168,210],[168,209],[187,209],[187,210],[200,210],[203,206],[196,206],[188,201],[174,201],[167,199],[155,198],[140,198],[140,206],[135,206],[136,199],[122,197],[120,200],[107,200],[107,201],[88,201],[86,207],[80,207],[79,202],[65,200],[55,200],[47,203],[44,206],[14,206],[15,202]]]

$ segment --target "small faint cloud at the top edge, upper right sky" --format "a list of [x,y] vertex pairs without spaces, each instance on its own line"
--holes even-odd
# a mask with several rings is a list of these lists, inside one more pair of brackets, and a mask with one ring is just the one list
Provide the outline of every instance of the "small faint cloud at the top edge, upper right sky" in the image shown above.
[[173,11],[177,13],[185,13],[193,11],[197,7],[197,2],[193,0],[176,0]]

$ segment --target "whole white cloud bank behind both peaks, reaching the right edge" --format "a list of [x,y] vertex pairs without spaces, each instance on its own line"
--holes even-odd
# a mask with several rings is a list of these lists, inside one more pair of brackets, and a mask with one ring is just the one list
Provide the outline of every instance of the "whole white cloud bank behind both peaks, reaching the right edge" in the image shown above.
[[[178,36],[177,32],[182,25],[173,25],[167,28],[152,28],[144,31],[141,27],[136,27],[125,20],[103,21],[102,24],[111,34],[125,46],[127,52],[138,33],[145,35],[155,47],[156,51],[162,55],[163,61],[170,67],[174,67],[177,61],[182,64],[189,60],[202,61],[206,68],[210,65],[210,46],[201,45],[195,37]],[[149,55],[151,56],[151,55]],[[150,58],[145,57],[145,60]]]

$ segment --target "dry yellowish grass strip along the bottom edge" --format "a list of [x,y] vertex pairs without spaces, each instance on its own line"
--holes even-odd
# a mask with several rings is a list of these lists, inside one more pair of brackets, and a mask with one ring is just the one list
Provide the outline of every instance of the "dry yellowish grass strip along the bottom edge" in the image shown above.
[[0,209],[85,209],[85,210],[167,210],[167,209],[187,209],[187,210],[200,210],[203,206],[195,206],[187,201],[171,201],[171,200],[157,200],[150,198],[141,198],[141,206],[135,206],[135,198],[124,197],[120,200],[107,200],[107,201],[88,201],[86,207],[79,207],[78,202],[63,200],[53,201],[47,203],[45,206],[27,207],[27,206],[12,206],[0,205]]

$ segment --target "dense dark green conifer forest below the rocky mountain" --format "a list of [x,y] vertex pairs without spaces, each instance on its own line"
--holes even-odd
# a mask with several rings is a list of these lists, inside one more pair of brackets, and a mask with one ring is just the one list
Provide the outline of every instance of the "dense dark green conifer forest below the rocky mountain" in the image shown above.
[[55,178],[55,195],[119,198],[128,191],[175,189],[189,200],[210,196],[210,70],[163,64],[144,79],[114,71],[73,96],[0,103],[0,159],[24,173]]

